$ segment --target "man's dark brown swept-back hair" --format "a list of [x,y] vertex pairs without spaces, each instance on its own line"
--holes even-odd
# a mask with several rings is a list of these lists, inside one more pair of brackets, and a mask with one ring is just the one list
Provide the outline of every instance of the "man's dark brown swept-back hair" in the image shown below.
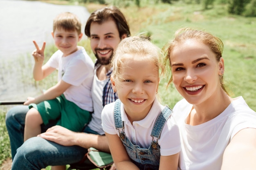
[[90,37],[90,27],[92,22],[102,24],[103,22],[106,22],[108,20],[115,21],[120,39],[124,34],[126,34],[127,37],[130,36],[130,29],[126,18],[124,17],[124,14],[117,7],[114,6],[104,7],[102,9],[97,9],[96,11],[94,11],[86,22],[85,35]]

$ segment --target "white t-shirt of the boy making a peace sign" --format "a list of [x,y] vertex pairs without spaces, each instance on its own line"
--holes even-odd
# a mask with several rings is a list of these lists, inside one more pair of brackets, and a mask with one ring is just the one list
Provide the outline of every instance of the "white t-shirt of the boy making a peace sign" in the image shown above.
[[63,53],[58,50],[46,64],[58,70],[58,82],[62,79],[72,85],[63,93],[65,98],[74,102],[79,108],[92,112],[94,63],[82,46],[78,48],[78,51],[66,57],[63,57]]

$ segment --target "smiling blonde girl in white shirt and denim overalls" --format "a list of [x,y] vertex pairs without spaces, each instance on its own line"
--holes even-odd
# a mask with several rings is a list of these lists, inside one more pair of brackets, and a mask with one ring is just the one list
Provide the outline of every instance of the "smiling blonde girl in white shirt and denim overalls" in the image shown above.
[[119,99],[102,111],[102,126],[118,170],[177,170],[179,130],[156,97],[160,50],[145,38],[122,40],[112,59]]

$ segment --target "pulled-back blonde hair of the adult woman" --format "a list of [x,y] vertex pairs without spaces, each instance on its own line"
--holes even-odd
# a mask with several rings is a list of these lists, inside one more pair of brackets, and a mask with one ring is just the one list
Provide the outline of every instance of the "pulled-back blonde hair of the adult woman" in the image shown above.
[[[170,68],[171,70],[171,60],[170,55],[175,46],[177,46],[180,43],[185,42],[186,40],[193,39],[198,42],[202,42],[205,45],[209,46],[211,51],[216,55],[216,61],[220,61],[220,57],[222,57],[222,51],[223,51],[223,42],[220,40],[220,38],[213,36],[211,33],[207,33],[205,31],[195,30],[191,28],[182,28],[175,32],[175,38],[168,42],[164,46],[165,51],[165,65]],[[173,81],[173,77],[171,75],[171,78],[168,82],[168,85],[171,84]],[[220,76],[220,84],[222,89],[227,93],[224,83],[223,83],[223,75]]]

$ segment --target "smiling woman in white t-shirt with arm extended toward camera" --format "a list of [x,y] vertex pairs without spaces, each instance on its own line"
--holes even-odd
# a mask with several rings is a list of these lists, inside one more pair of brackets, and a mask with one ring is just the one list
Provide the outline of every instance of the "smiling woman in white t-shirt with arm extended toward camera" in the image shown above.
[[256,113],[223,86],[222,41],[204,31],[181,29],[166,51],[177,91],[173,108],[180,129],[181,170],[256,168]]

